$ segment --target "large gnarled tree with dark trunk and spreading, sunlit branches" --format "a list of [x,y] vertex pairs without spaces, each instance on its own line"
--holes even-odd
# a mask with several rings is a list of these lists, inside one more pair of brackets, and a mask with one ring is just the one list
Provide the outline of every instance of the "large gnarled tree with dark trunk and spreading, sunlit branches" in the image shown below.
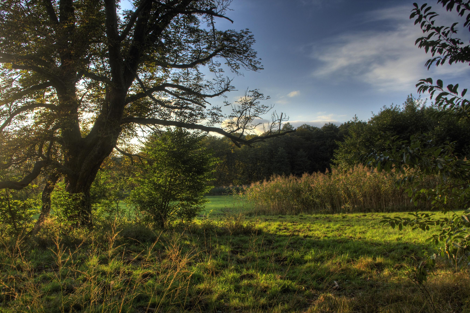
[[25,174],[0,188],[63,176],[87,224],[98,169],[142,125],[213,131],[237,145],[278,136],[282,115],[263,137],[244,139],[270,109],[256,90],[230,114],[207,102],[234,89],[224,69],[262,69],[248,30],[215,27],[231,21],[230,2],[134,0],[121,10],[116,0],[1,1],[1,169]]

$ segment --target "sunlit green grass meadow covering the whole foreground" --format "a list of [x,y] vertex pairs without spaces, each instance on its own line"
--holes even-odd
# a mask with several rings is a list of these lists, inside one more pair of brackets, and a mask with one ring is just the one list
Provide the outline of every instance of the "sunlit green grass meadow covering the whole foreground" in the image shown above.
[[470,312],[468,271],[438,262],[428,291],[408,278],[432,246],[380,226],[403,213],[248,217],[210,200],[209,218],[163,232],[123,222],[53,240],[49,225],[4,243],[1,312]]

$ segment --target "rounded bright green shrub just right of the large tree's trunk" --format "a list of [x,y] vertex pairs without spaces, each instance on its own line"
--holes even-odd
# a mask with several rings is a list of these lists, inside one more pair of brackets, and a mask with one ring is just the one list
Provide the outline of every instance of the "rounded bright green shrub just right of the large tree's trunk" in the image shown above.
[[198,134],[167,130],[155,134],[142,153],[128,202],[164,227],[174,221],[194,218],[207,202],[211,190],[211,156]]

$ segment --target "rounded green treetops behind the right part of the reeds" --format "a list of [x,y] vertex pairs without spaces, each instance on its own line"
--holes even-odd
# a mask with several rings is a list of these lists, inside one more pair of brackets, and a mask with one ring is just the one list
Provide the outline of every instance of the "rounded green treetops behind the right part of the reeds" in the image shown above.
[[470,121],[443,113],[410,95],[402,106],[384,107],[368,122],[356,118],[349,122],[344,142],[338,143],[335,163],[349,168],[361,155],[386,150],[391,138],[409,140],[415,134],[426,134],[435,145],[452,142],[455,155],[470,157]]

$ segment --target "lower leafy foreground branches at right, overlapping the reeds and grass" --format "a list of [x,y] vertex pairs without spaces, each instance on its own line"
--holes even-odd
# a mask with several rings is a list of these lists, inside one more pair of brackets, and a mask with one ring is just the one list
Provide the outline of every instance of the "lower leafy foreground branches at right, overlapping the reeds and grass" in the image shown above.
[[[430,231],[439,226],[440,233],[427,240],[441,244],[439,254],[456,267],[470,265],[470,163],[454,155],[451,143],[433,145],[425,134],[412,136],[409,142],[392,139],[387,144],[390,149],[371,153],[363,161],[378,171],[400,174],[397,185],[407,185],[406,192],[415,205],[420,199],[430,199],[434,208],[450,214],[436,218],[435,214],[416,211],[409,213],[411,217],[384,217],[381,223],[399,230],[410,227]],[[422,188],[424,176],[437,177],[436,184]],[[434,265],[435,256],[431,255],[418,266],[416,279],[423,282],[425,270]]]

